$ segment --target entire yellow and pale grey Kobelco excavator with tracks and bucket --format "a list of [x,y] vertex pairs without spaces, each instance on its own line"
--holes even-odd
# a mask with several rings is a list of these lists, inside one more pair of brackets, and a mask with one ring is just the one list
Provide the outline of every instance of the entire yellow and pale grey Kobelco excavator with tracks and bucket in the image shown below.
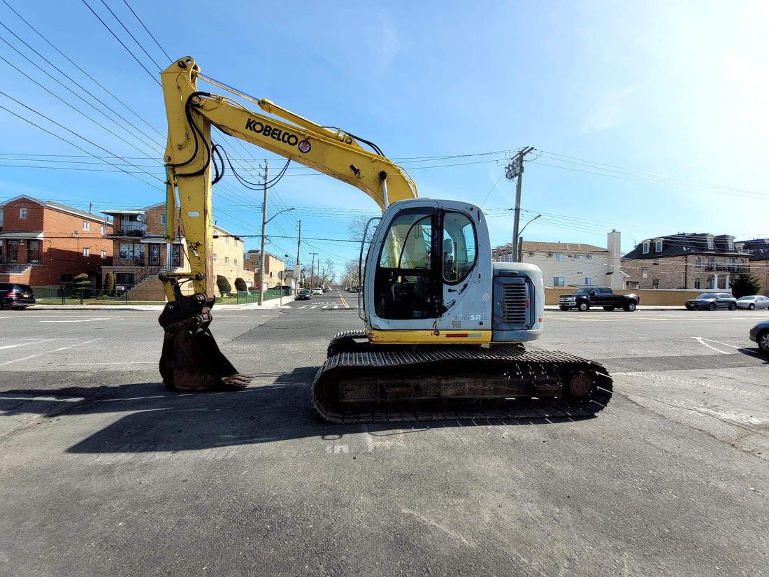
[[[550,419],[594,415],[611,398],[597,362],[529,349],[544,324],[540,269],[492,262],[488,223],[469,202],[418,198],[373,143],[201,74],[191,57],[161,72],[168,115],[166,242],[185,238],[189,272],[162,272],[168,303],[160,372],[170,389],[242,389],[211,335],[211,186],[224,162],[211,126],[359,188],[383,211],[361,242],[364,328],[335,335],[311,387],[331,422]],[[198,91],[198,80],[253,102]],[[365,146],[364,146],[365,145]],[[218,161],[218,162],[217,162]],[[215,177],[212,178],[212,172]],[[378,222],[377,222],[378,221]],[[170,262],[170,259],[169,259]],[[182,287],[191,283],[193,294]]]

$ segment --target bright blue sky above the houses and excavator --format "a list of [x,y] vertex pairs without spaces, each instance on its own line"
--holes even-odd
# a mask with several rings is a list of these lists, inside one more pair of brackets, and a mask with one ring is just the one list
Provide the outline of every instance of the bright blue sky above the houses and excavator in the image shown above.
[[[527,240],[605,246],[616,228],[627,252],[674,232],[769,237],[765,2],[86,2],[0,0],[8,109],[0,109],[0,201],[26,194],[77,208],[94,202],[96,210],[161,202],[165,113],[153,77],[169,63],[165,52],[191,55],[211,78],[375,142],[409,169],[423,197],[482,204],[494,244],[511,240],[506,158],[527,145],[537,151],[525,168],[522,218],[544,214]],[[113,122],[85,90],[133,127]],[[268,158],[271,174],[284,164],[219,140],[239,158]],[[140,168],[126,169],[155,178],[94,155],[113,164],[131,157]],[[245,172],[256,162],[241,164]],[[339,242],[349,238],[349,218],[376,212],[358,189],[296,165],[271,188],[268,206],[270,215],[297,207],[270,223],[268,251],[295,255],[295,238],[279,237],[295,237],[301,218],[302,261],[318,252],[338,268],[357,258],[354,245]],[[260,194],[230,177],[215,188],[214,207],[219,225],[258,235]],[[258,248],[258,239],[246,247]]]

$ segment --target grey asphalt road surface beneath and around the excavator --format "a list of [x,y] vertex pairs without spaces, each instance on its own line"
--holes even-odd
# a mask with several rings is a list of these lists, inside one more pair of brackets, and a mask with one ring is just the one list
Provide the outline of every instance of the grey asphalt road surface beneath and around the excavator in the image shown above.
[[161,385],[155,311],[0,312],[0,575],[767,575],[769,312],[548,311],[594,419],[331,425],[355,305],[215,309],[255,380],[208,394]]

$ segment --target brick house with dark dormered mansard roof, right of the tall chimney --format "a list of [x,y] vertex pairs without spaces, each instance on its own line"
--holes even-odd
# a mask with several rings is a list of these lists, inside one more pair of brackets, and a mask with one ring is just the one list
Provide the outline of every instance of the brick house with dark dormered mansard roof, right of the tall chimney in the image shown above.
[[731,275],[749,272],[750,255],[734,236],[679,233],[647,238],[622,257],[628,288],[729,290]]

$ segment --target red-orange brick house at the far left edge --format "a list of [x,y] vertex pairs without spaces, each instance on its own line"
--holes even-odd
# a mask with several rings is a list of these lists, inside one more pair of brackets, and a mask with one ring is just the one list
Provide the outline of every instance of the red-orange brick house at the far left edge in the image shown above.
[[112,265],[112,222],[77,208],[17,196],[0,205],[0,281],[55,286],[87,274],[102,286]]

